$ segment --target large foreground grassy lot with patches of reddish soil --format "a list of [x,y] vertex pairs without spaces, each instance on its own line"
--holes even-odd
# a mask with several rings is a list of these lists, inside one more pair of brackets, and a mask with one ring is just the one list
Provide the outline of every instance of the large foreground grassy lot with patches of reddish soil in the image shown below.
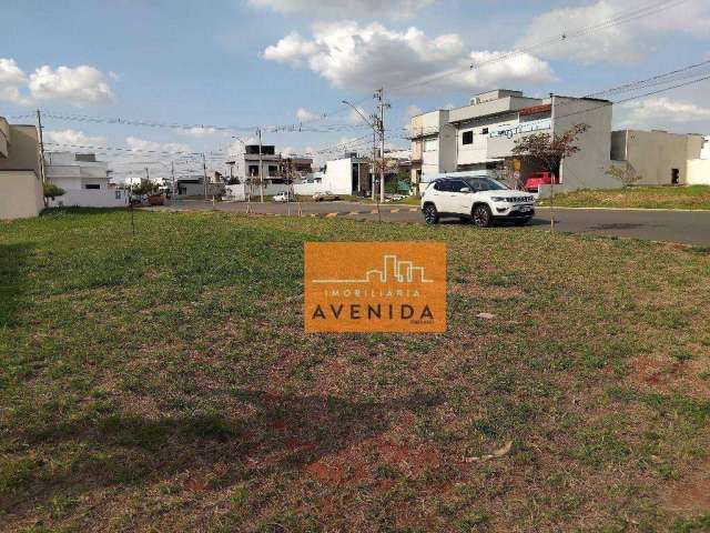
[[[0,530],[710,530],[706,252],[136,219],[0,224]],[[400,239],[448,243],[448,333],[303,333],[304,240]]]

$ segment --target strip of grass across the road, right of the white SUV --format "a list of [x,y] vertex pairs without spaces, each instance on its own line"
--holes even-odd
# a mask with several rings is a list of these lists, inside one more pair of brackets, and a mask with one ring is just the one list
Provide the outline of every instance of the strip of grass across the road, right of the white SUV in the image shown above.
[[[549,205],[549,200],[540,202]],[[710,187],[632,187],[626,190],[582,190],[555,197],[568,208],[710,209]]]

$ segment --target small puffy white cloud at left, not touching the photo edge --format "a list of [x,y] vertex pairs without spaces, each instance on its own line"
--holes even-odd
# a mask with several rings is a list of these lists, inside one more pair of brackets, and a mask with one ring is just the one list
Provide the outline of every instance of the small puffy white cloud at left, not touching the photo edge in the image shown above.
[[62,100],[77,107],[113,103],[113,92],[100,70],[85,64],[40,67],[30,76],[30,93],[37,100]]

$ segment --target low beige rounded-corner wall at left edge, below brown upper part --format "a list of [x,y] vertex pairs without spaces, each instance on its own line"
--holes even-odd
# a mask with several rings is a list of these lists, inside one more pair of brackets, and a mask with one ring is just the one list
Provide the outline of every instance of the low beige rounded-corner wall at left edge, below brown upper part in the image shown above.
[[32,170],[0,171],[0,219],[37,217],[44,209],[42,183]]

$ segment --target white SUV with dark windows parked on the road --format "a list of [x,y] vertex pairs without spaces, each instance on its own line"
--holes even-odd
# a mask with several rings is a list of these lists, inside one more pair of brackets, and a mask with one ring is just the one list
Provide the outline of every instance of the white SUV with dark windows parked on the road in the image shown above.
[[444,217],[458,217],[473,220],[480,228],[495,220],[523,225],[535,214],[535,199],[491,178],[440,178],[424,191],[422,212],[427,224],[436,224]]

